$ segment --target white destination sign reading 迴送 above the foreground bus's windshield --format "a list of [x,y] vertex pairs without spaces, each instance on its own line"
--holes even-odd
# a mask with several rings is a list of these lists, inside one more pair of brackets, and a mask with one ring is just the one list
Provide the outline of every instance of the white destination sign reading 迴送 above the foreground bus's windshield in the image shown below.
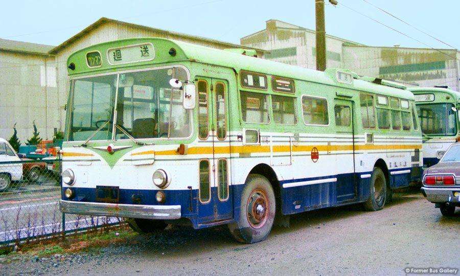
[[128,45],[107,50],[107,59],[111,65],[149,61],[155,58],[153,44]]

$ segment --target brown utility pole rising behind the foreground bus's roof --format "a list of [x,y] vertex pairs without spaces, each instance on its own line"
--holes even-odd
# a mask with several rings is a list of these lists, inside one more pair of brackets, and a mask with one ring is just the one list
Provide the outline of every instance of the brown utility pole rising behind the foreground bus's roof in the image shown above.
[[316,13],[316,70],[326,70],[326,26],[324,0],[315,0]]

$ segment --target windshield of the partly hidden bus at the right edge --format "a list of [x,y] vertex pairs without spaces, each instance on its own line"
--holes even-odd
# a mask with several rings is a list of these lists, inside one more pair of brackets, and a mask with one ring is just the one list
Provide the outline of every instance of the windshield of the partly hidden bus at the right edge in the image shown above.
[[417,105],[422,132],[428,136],[456,135],[454,105],[450,103]]

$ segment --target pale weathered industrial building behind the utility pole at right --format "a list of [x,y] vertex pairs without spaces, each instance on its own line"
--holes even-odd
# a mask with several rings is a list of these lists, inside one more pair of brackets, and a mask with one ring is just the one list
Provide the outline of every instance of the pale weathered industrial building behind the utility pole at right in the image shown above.
[[[270,51],[265,58],[316,68],[315,31],[279,20],[240,39],[241,45]],[[402,82],[406,86],[447,85],[458,91],[460,52],[446,49],[369,47],[326,34],[327,67]]]

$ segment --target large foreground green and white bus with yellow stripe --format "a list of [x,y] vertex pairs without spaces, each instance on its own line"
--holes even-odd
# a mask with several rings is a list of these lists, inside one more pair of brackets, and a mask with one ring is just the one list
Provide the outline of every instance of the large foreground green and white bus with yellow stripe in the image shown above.
[[275,216],[377,211],[408,186],[422,166],[410,91],[254,54],[162,38],[72,54],[61,211],[139,232],[228,224],[252,243]]

